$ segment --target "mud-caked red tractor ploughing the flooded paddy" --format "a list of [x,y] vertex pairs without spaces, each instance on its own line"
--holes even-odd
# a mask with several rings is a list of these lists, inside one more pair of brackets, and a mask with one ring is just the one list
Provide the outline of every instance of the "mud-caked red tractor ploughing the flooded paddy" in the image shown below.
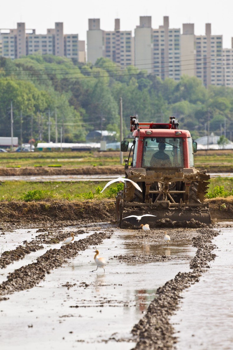
[[[136,182],[142,191],[125,181],[115,203],[120,227],[124,221],[139,226],[164,218],[211,222],[203,203],[210,175],[206,170],[195,169],[197,143],[188,130],[179,130],[178,126],[175,117],[170,117],[169,123],[139,123],[136,117],[130,117],[133,145],[125,159],[125,177]],[[127,152],[128,147],[129,141],[121,142],[122,152]],[[140,221],[124,219],[129,213],[156,217],[143,217]]]

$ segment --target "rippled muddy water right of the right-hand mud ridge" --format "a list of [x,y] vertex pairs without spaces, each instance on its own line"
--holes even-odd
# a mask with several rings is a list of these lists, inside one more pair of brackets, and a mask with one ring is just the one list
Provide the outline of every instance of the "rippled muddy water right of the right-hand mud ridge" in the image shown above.
[[183,293],[181,309],[171,319],[177,350],[233,349],[233,229],[221,229],[213,243],[218,248],[211,268]]

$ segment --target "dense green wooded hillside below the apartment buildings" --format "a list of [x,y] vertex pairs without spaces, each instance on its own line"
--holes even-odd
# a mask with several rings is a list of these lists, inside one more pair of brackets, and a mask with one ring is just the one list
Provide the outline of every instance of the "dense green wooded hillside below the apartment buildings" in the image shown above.
[[[68,58],[35,55],[14,61],[0,58],[0,136],[10,136],[10,103],[13,104],[14,136],[20,137],[22,113],[23,142],[32,135],[48,141],[50,111],[51,141],[55,141],[55,113],[66,142],[85,141],[91,130],[117,131],[119,99],[123,99],[124,136],[129,134],[129,116],[139,121],[168,122],[179,119],[180,127],[192,137],[210,131],[220,134],[226,123],[230,138],[233,120],[233,89],[210,86],[207,90],[196,77],[183,76],[179,82],[161,81],[153,74],[127,66],[122,69],[108,59],[95,65]],[[119,136],[118,136],[119,137]]]

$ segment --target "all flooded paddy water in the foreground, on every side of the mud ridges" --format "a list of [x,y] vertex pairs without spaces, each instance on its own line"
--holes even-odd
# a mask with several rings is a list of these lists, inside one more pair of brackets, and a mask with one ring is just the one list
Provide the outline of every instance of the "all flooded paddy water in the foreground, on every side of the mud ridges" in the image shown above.
[[[2,251],[15,250],[26,240],[36,239],[36,231],[38,228],[27,228],[0,234]],[[190,259],[197,252],[192,238],[199,234],[198,229],[169,229],[171,241],[167,246],[162,229],[153,229],[146,237],[140,229],[119,229],[109,223],[89,224],[81,230],[59,229],[67,237],[71,231],[75,241],[80,242],[94,232],[112,233],[101,244],[79,251],[61,267],[51,267],[31,289],[0,297],[1,349],[134,348],[136,337],[132,328],[147,313],[157,297],[156,290],[177,274],[192,271]],[[56,236],[56,230],[52,234]],[[232,228],[221,228],[213,243],[218,246],[214,251],[216,259],[199,283],[191,284],[182,293],[182,309],[171,319],[179,338],[178,350],[231,349],[233,285],[228,281],[233,269]],[[42,245],[41,250],[2,268],[0,283],[15,269],[29,266],[50,249],[56,252],[61,247],[61,243],[43,241]],[[68,252],[69,246],[62,249]],[[90,272],[96,268],[93,259],[96,249],[107,260],[105,273],[101,268]]]

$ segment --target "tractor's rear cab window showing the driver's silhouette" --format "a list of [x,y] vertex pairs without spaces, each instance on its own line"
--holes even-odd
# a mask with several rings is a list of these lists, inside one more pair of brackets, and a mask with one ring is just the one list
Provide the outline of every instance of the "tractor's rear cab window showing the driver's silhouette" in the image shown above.
[[145,168],[183,168],[183,139],[181,137],[145,138],[142,166]]

